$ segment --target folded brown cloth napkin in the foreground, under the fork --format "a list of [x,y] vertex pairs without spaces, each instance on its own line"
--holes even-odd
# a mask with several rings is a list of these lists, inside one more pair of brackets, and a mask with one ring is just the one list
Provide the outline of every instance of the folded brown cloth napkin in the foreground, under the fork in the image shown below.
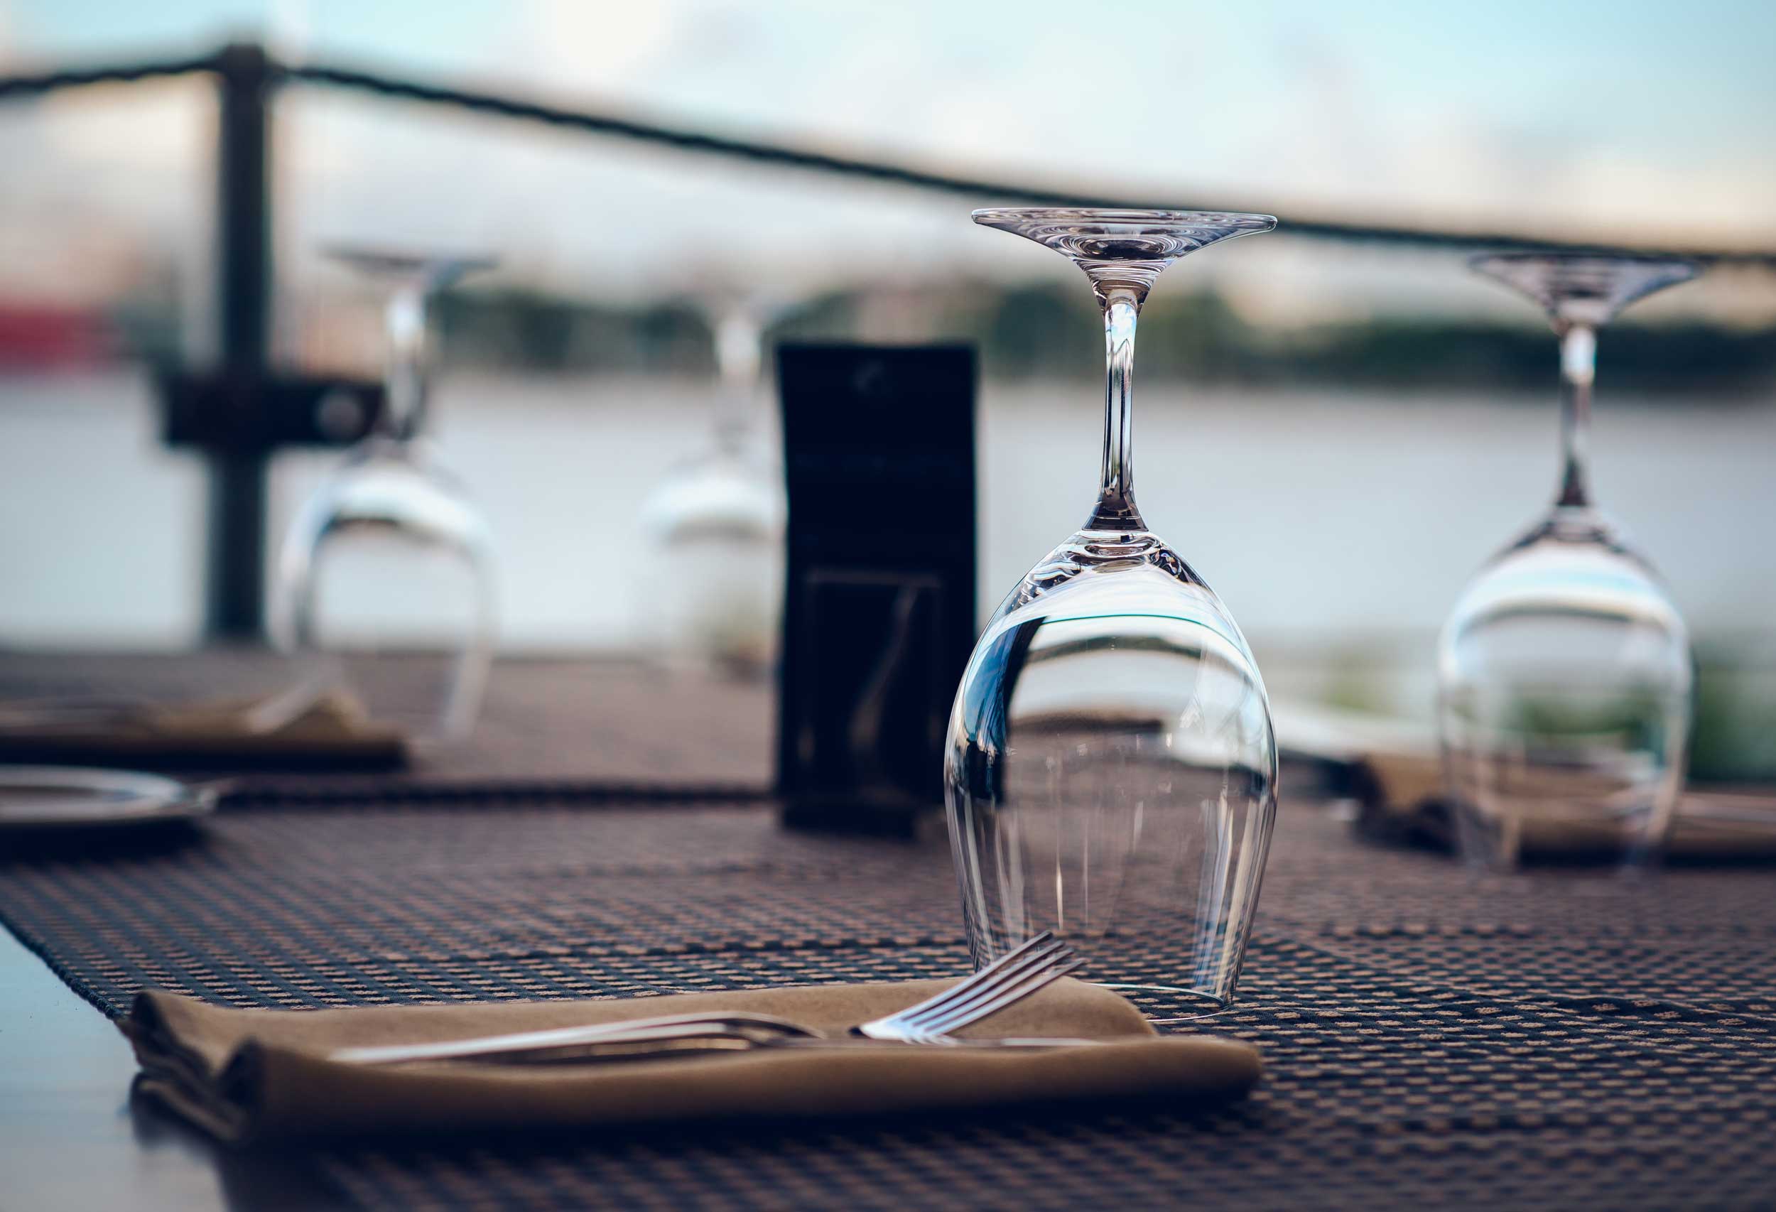
[[975,1050],[764,1049],[616,1064],[359,1066],[334,1049],[462,1040],[687,1011],[780,1015],[822,1033],[911,1006],[948,981],[833,985],[581,1002],[364,1009],[226,1009],[144,992],[123,1031],[139,1091],[224,1141],[758,1116],[851,1116],[1080,1098],[1213,1104],[1257,1082],[1257,1050],[1160,1036],[1110,990],[1064,977],[973,1027],[971,1038],[1074,1036],[1098,1047]]

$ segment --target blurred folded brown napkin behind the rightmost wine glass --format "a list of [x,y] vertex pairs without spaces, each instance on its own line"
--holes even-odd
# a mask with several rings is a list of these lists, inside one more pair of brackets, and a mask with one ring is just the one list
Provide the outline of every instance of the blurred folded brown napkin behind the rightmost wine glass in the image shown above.
[[[1455,826],[1444,800],[1439,755],[1403,750],[1362,754],[1353,791],[1362,803],[1359,825],[1364,832],[1453,844]],[[1577,855],[1621,842],[1613,823],[1572,810],[1575,801],[1597,793],[1595,778],[1588,775],[1524,771],[1510,791],[1526,803],[1518,823],[1526,855]],[[1664,851],[1685,858],[1776,857],[1776,794],[1685,794]]]

